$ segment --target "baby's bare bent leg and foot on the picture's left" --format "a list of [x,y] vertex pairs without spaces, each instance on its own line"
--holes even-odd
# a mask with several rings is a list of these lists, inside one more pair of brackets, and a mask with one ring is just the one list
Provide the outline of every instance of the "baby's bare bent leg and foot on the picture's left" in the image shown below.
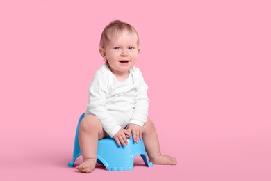
[[76,166],[79,171],[90,173],[95,169],[97,161],[98,140],[106,137],[106,132],[101,127],[98,118],[87,115],[79,125],[79,145],[83,163]]

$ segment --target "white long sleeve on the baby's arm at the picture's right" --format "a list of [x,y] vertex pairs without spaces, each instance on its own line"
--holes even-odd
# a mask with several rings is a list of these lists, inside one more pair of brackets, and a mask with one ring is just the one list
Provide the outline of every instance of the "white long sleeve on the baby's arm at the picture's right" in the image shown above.
[[142,73],[138,68],[136,69],[135,73],[136,81],[138,81],[138,88],[136,93],[133,116],[129,123],[140,125],[142,127],[144,123],[146,123],[149,111],[149,98],[147,95],[148,86],[145,83]]

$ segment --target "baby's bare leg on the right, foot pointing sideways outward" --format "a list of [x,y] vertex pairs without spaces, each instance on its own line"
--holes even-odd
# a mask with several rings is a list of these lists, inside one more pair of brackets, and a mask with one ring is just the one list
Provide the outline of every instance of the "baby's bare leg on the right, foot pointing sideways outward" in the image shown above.
[[145,123],[145,125],[143,125],[142,137],[145,143],[145,148],[149,157],[149,161],[151,161],[153,164],[177,164],[177,160],[174,157],[161,155],[156,129],[154,127],[154,123],[152,123],[149,118],[147,118],[147,122]]

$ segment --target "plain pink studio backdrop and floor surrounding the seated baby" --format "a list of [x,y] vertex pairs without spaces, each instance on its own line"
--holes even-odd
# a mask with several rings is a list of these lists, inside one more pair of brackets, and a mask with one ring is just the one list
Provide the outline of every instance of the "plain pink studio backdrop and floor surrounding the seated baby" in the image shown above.
[[[0,180],[271,180],[269,2],[1,1]],[[114,19],[138,29],[149,116],[177,166],[67,167]]]

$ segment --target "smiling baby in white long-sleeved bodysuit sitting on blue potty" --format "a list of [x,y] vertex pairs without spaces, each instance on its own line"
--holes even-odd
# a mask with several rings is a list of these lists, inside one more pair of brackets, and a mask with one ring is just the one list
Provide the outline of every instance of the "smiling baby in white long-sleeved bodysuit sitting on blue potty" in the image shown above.
[[101,34],[99,52],[106,63],[90,84],[89,103],[79,125],[83,163],[76,168],[84,173],[95,169],[98,140],[106,136],[119,146],[127,145],[131,136],[136,143],[143,139],[150,162],[176,165],[174,157],[161,154],[154,123],[148,118],[148,86],[133,66],[140,52],[136,29],[119,20],[111,22]]

